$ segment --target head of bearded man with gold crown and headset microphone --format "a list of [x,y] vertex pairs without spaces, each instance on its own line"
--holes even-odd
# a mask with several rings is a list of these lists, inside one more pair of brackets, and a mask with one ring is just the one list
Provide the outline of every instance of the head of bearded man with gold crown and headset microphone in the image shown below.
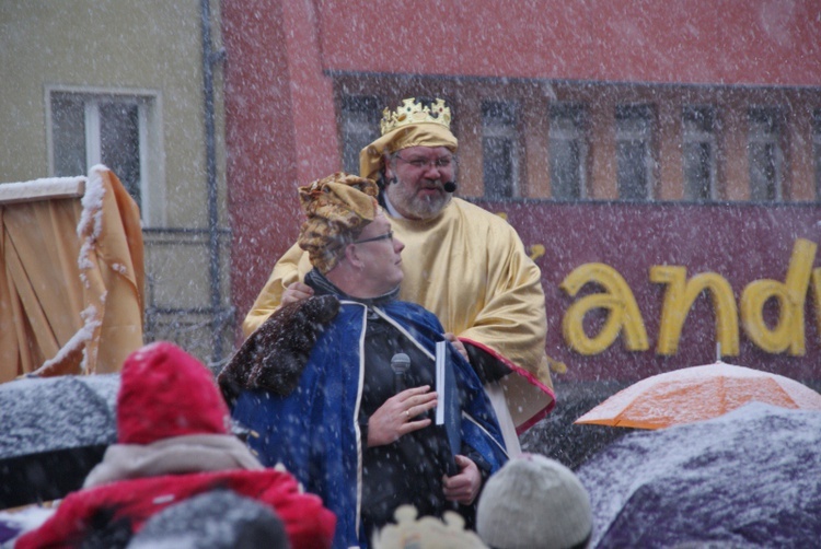
[[456,189],[451,112],[443,100],[409,97],[385,108],[381,137],[359,153],[362,177],[380,180],[385,202],[407,219],[432,219]]

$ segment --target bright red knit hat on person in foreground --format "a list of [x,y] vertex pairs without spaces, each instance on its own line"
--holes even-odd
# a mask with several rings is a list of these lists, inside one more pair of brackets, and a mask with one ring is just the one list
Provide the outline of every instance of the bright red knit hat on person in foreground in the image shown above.
[[227,434],[228,406],[213,374],[169,342],[148,344],[123,364],[117,441],[150,444],[184,434]]

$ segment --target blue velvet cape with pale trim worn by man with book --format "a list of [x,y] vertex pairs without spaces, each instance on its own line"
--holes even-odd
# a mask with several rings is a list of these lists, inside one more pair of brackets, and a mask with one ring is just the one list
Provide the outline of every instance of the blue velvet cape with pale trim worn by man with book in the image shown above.
[[[335,548],[368,547],[360,539],[362,447],[358,424],[363,385],[362,346],[368,309],[342,301],[339,314],[317,339],[299,385],[287,397],[245,390],[234,420],[251,430],[248,446],[268,467],[281,463],[320,495],[337,516]],[[425,308],[394,301],[372,306],[421,349],[433,355],[442,326]],[[479,453],[495,472],[507,460],[496,416],[471,365],[448,344],[462,395],[462,443]]]

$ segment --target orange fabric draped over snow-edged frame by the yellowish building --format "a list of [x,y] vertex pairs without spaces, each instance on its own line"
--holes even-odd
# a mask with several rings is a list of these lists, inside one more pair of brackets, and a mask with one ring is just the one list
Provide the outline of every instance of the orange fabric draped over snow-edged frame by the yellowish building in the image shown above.
[[142,346],[139,209],[105,166],[0,185],[0,382],[118,372]]

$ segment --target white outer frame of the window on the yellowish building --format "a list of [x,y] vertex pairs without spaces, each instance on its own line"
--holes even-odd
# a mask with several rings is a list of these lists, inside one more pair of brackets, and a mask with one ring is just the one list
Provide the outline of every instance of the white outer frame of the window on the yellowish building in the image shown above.
[[[85,114],[85,163],[88,171],[101,163],[100,106],[129,103],[137,106],[140,148],[140,215],[143,226],[165,225],[165,173],[162,139],[162,101],[154,90],[123,90],[49,85],[45,90],[48,173],[55,174],[51,95],[81,96]],[[82,174],[78,174],[82,175]]]

